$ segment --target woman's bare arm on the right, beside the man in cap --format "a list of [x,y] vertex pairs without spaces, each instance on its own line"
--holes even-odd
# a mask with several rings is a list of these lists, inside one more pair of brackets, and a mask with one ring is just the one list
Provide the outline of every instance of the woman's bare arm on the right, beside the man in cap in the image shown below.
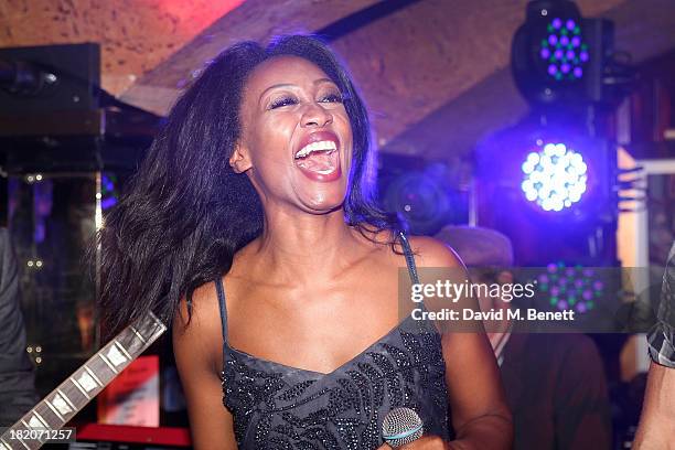
[[[468,279],[459,258],[443,244],[427,237],[413,238],[411,244],[418,255],[416,260],[422,283],[436,282],[438,279],[438,272],[432,274],[425,270],[425,267],[449,268],[446,271],[447,278],[453,282],[461,283]],[[430,311],[451,308],[459,311],[460,317],[464,309],[480,310],[478,300],[468,296],[461,297],[456,303],[448,298],[432,298],[425,300],[425,306]],[[457,440],[444,448],[510,449],[513,441],[511,411],[506,406],[499,367],[482,323],[444,321],[437,325],[442,332],[446,384],[457,435]],[[457,331],[458,325],[462,331]]]

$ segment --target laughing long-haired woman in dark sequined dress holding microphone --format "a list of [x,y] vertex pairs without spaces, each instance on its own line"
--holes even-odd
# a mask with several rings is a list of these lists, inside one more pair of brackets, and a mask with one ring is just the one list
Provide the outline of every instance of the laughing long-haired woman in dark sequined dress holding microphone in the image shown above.
[[418,266],[461,262],[374,206],[368,133],[320,41],[237,44],[175,105],[106,219],[104,310],[114,328],[173,318],[195,448],[384,449],[399,406],[425,424],[405,448],[508,447],[484,334],[399,318],[399,267],[409,289]]

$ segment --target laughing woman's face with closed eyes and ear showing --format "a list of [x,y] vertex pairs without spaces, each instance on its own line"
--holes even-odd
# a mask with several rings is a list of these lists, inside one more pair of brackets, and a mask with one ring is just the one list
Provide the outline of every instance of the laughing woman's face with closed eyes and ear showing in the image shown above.
[[344,202],[352,127],[338,86],[297,56],[260,64],[246,83],[242,137],[229,162],[262,204],[322,214]]

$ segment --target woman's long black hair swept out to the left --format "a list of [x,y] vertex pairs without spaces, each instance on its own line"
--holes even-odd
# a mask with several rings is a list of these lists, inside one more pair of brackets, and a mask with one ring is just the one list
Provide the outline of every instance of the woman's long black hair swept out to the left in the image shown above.
[[191,302],[197,287],[229,271],[234,254],[260,235],[259,196],[228,159],[239,139],[246,81],[260,63],[280,55],[314,63],[344,96],[354,137],[344,203],[349,225],[364,236],[366,231],[400,229],[396,216],[375,203],[367,111],[332,51],[308,35],[281,36],[267,47],[235,44],[178,100],[122,199],[105,217],[98,234],[99,308],[107,335],[148,311],[170,324],[182,297]]

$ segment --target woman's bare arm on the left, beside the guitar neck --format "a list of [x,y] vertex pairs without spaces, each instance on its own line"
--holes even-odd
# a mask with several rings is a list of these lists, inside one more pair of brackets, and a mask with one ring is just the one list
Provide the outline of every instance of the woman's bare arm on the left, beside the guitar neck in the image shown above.
[[195,449],[234,450],[232,414],[223,406],[218,377],[222,331],[217,302],[205,292],[195,291],[192,320],[188,328],[188,309],[173,320],[173,353],[188,400],[192,444]]

